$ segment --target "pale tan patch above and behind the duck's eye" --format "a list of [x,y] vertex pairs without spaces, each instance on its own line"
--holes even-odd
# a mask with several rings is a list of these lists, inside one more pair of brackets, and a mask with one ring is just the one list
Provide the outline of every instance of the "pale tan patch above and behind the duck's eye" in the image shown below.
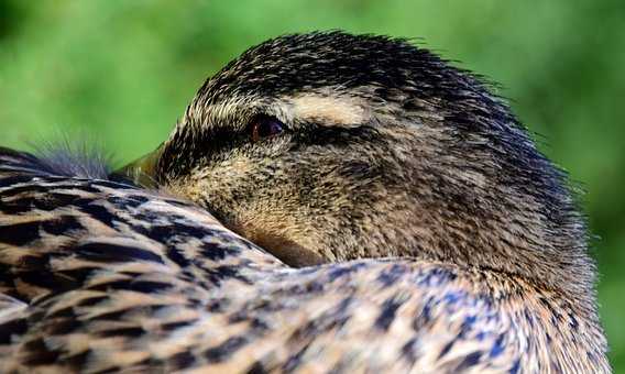
[[318,120],[321,125],[355,128],[370,117],[357,98],[303,95],[288,101],[294,118]]

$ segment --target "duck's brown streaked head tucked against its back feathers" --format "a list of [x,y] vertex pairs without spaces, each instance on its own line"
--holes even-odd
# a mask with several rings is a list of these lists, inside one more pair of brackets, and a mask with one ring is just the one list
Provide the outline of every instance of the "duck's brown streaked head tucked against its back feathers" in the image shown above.
[[329,32],[254,46],[124,173],[293,266],[410,256],[573,295],[593,284],[562,172],[486,84],[405,40]]

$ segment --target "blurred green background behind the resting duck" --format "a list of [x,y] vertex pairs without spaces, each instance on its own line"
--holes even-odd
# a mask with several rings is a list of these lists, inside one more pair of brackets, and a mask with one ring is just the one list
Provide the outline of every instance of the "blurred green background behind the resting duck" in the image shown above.
[[501,82],[540,148],[588,190],[601,315],[625,372],[622,0],[0,0],[0,144],[63,134],[130,161],[243,50],[327,29],[416,37]]

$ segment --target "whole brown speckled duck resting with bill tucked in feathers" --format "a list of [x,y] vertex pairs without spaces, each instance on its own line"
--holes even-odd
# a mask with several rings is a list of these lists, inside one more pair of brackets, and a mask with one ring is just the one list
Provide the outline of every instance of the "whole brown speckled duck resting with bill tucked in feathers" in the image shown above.
[[0,178],[1,372],[610,372],[564,175],[403,40],[271,40],[121,172]]

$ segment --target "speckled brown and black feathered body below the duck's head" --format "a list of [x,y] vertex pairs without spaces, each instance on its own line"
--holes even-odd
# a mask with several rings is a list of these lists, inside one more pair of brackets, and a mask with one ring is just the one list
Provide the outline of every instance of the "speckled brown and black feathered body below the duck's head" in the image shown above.
[[610,371],[596,317],[519,278],[290,268],[189,202],[8,151],[0,199],[2,373]]

